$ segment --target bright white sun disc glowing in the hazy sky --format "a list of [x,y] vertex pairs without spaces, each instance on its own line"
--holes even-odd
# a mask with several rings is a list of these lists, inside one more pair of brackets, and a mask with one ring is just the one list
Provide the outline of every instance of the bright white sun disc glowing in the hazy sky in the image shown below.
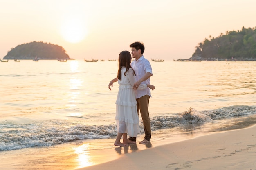
[[82,41],[87,35],[85,22],[78,17],[65,18],[61,26],[61,35],[70,43]]

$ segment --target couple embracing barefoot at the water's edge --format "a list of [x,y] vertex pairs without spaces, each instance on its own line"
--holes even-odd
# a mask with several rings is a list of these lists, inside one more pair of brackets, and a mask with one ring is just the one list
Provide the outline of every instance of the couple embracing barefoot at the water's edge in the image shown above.
[[[113,83],[118,81],[119,91],[117,94],[116,117],[117,120],[117,139],[115,146],[126,146],[136,143],[139,129],[139,111],[144,125],[145,137],[140,144],[150,142],[151,124],[148,113],[150,89],[155,86],[150,85],[150,76],[153,75],[152,68],[147,59],[144,58],[144,45],[141,42],[130,44],[132,48],[132,61],[130,52],[122,51],[118,59],[117,78],[108,84],[111,90]],[[131,63],[132,61],[132,63]],[[135,99],[136,96],[136,99]],[[130,136],[127,138],[127,134]],[[120,142],[123,136],[123,142]]]

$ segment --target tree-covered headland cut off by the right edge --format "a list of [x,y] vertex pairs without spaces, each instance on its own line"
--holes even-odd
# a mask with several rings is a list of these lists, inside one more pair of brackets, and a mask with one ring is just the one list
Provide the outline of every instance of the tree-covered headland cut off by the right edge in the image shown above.
[[191,60],[256,61],[256,27],[238,31],[226,31],[219,37],[205,38],[195,47]]

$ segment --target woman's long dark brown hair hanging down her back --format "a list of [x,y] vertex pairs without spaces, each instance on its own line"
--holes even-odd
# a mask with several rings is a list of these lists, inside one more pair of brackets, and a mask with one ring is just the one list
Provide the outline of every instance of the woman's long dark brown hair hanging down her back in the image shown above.
[[[131,56],[129,51],[120,52],[119,57],[118,57],[118,72],[117,72],[117,78],[119,80],[121,80],[121,68],[122,68],[122,66],[126,67],[126,71],[124,72],[124,76],[126,76],[125,74],[126,74],[126,72],[128,72],[128,70],[130,68],[133,70],[133,68],[130,64],[131,61],[132,61],[132,56]],[[134,70],[133,70],[133,74],[136,75]]]

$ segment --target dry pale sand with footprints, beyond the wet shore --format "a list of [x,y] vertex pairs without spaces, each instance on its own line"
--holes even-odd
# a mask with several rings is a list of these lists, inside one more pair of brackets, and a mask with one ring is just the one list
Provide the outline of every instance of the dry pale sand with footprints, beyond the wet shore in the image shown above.
[[[125,151],[125,147],[115,150]],[[98,169],[256,170],[256,126],[137,150],[109,162],[80,168]]]

